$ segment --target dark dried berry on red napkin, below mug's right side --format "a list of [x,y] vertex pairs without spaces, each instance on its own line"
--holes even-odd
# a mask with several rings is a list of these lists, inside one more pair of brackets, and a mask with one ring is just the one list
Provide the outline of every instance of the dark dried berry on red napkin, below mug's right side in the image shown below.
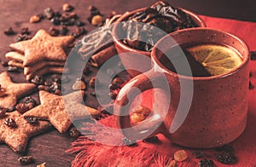
[[220,153],[217,153],[215,157],[222,164],[236,164],[237,163],[237,157],[232,152],[222,151]]

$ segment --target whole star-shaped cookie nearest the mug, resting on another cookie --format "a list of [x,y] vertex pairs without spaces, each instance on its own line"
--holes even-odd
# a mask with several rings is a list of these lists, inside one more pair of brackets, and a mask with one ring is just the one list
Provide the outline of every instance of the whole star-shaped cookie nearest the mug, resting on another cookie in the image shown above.
[[41,90],[39,91],[41,104],[24,113],[24,116],[47,119],[60,133],[64,133],[72,124],[71,119],[90,118],[99,114],[96,109],[81,104],[83,96],[84,91],[60,96]]

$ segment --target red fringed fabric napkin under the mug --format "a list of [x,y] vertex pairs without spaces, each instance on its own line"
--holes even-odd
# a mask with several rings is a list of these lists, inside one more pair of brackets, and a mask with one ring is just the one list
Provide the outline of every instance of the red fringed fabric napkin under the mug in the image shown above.
[[[256,23],[212,18],[201,15],[208,27],[230,32],[241,37],[248,44],[251,50],[256,50]],[[251,83],[256,86],[256,60],[251,60]],[[250,102],[247,119],[247,128],[244,133],[229,145],[234,147],[238,163],[232,166],[254,166],[256,164],[256,87],[249,92]],[[143,106],[151,107],[152,90],[143,93]],[[103,118],[95,123],[84,123],[83,130],[89,130],[88,137],[97,141],[113,141],[121,143],[122,134],[119,131],[109,131],[105,124],[115,128],[116,125],[113,116]],[[114,135],[113,135],[114,134]],[[115,136],[114,138],[111,136]],[[200,159],[194,158],[192,152],[195,149],[179,147],[168,141],[163,135],[158,135],[159,141],[154,143],[138,142],[137,147],[126,146],[108,146],[100,142],[90,141],[87,137],[80,137],[78,141],[73,142],[69,153],[78,153],[73,160],[73,166],[165,166],[172,162],[173,153],[177,150],[185,150],[189,158],[178,166],[196,166]],[[200,136],[199,136],[200,137]],[[225,166],[214,158],[214,149],[203,150],[209,158],[218,166]]]

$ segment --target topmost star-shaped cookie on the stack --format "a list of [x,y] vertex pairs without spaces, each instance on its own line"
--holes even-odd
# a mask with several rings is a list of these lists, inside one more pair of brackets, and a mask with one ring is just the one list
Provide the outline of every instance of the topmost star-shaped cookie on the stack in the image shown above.
[[65,61],[65,49],[73,42],[73,36],[51,37],[45,30],[39,30],[32,39],[11,43],[10,48],[24,53],[23,66],[32,66],[39,61]]

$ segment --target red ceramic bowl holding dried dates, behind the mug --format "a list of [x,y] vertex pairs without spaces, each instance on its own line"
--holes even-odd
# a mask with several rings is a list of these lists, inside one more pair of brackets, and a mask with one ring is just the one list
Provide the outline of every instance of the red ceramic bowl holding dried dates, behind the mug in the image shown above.
[[[143,9],[136,9],[131,12],[126,12],[123,14],[117,22],[126,21],[127,18],[131,17],[131,15],[136,14],[137,12],[141,12],[145,10]],[[200,27],[205,27],[206,24],[204,20],[202,20],[197,14],[187,10],[187,9],[181,9],[186,14],[189,14],[192,20],[194,20],[195,24]],[[124,39],[122,37],[122,33],[119,31],[120,24],[114,24],[113,25],[113,42],[115,44],[116,50],[118,52],[122,64],[125,66],[125,69],[127,72],[130,73],[131,77],[135,77],[138,74],[142,72],[147,72],[151,68],[150,64],[150,52],[139,50],[139,49],[133,49],[127,44],[123,43],[121,39]],[[144,56],[140,56],[144,55]],[[137,59],[137,57],[140,57],[140,59]],[[137,71],[132,70],[134,67],[137,66]]]

